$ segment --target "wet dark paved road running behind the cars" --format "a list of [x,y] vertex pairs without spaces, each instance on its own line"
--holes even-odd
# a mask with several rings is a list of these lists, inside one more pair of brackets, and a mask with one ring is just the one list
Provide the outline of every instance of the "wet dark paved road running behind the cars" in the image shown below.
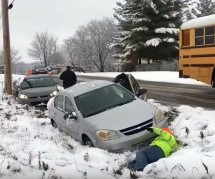
[[[54,79],[60,82],[58,77],[54,77]],[[79,82],[93,79],[112,80],[112,78],[107,77],[78,75]],[[161,104],[171,106],[189,105],[192,107],[215,109],[215,89],[210,86],[141,80],[138,80],[138,82],[140,86],[148,90],[148,99],[154,99]]]

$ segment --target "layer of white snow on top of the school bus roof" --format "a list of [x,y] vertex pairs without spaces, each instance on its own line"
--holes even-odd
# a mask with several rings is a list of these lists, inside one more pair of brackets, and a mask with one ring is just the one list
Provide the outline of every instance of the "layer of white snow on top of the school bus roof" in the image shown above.
[[190,29],[190,28],[197,28],[197,27],[203,27],[203,26],[210,26],[215,24],[215,14],[199,17],[196,19],[191,19],[187,22],[184,22],[181,25],[182,30]]

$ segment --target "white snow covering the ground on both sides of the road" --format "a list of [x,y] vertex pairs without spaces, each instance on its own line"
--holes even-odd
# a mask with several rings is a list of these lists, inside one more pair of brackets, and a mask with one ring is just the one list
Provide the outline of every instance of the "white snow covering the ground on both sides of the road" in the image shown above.
[[[115,76],[117,73],[91,75]],[[135,78],[204,85],[190,79],[178,79],[176,72],[132,72]],[[85,74],[90,75],[90,74]],[[13,80],[22,76],[13,75]],[[0,75],[0,82],[3,82]],[[178,141],[178,150],[168,158],[135,172],[139,178],[214,178],[214,110],[190,106],[163,106],[149,102],[168,115]],[[134,153],[109,153],[82,146],[71,137],[52,128],[47,111],[17,104],[2,92],[0,85],[0,177],[30,178],[131,178],[126,167]]]

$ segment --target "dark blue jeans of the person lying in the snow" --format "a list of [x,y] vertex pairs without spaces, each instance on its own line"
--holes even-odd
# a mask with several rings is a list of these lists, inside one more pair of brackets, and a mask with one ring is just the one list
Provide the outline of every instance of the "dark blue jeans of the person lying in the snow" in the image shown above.
[[164,152],[160,147],[155,145],[147,146],[137,151],[136,159],[128,164],[128,168],[143,171],[146,165],[164,157]]

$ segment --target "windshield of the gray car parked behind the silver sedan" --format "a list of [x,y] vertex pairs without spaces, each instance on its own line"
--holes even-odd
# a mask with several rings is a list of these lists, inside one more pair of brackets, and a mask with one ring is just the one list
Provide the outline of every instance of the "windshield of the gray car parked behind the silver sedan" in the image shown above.
[[27,78],[24,79],[21,83],[22,89],[27,88],[38,88],[38,87],[47,87],[54,86],[54,81],[50,77],[41,77],[41,78]]

